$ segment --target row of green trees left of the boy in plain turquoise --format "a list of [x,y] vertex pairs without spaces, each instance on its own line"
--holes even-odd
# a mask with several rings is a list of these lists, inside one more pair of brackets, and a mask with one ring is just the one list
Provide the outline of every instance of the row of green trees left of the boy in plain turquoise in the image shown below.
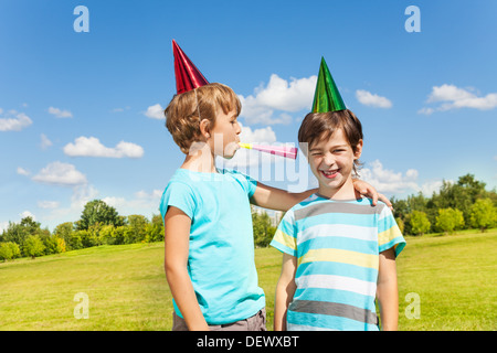
[[0,259],[32,257],[77,250],[98,245],[121,245],[163,240],[160,215],[121,216],[102,200],[86,203],[81,218],[57,225],[51,233],[28,216],[19,224],[9,222],[0,236]]

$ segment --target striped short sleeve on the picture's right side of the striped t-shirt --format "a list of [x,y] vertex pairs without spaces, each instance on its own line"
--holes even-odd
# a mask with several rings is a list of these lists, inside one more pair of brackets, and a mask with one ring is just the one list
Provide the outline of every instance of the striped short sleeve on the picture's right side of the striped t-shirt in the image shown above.
[[390,249],[395,250],[395,256],[402,252],[405,246],[405,239],[396,225],[392,211],[384,206],[378,221],[378,249],[379,253]]

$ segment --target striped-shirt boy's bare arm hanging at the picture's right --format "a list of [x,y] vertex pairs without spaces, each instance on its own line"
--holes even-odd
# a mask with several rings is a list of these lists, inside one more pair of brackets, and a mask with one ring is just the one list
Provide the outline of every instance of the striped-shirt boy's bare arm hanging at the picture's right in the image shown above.
[[381,329],[383,331],[396,331],[399,324],[399,290],[393,248],[380,253],[377,299],[380,306]]

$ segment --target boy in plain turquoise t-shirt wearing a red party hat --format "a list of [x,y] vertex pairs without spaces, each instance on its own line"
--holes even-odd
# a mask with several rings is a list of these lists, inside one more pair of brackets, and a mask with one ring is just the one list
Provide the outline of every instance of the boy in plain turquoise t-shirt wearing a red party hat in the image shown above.
[[[173,47],[178,94],[166,126],[187,154],[160,204],[173,330],[265,330],[250,203],[286,211],[313,190],[288,193],[215,168],[215,156],[232,158],[239,148],[240,100],[230,87],[209,84]],[[357,188],[377,195],[363,182]]]

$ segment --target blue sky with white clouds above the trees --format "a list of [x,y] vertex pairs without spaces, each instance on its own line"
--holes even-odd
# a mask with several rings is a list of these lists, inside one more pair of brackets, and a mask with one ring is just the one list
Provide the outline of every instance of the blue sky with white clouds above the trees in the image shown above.
[[[74,31],[77,6],[89,32]],[[421,32],[405,30],[409,6]],[[245,141],[296,143],[324,56],[379,191],[430,195],[466,173],[495,188],[496,15],[493,0],[1,0],[0,228],[32,215],[53,229],[93,199],[158,214],[183,160],[160,116],[176,93],[172,39],[240,95]],[[300,158],[239,151],[226,165],[315,185]]]

